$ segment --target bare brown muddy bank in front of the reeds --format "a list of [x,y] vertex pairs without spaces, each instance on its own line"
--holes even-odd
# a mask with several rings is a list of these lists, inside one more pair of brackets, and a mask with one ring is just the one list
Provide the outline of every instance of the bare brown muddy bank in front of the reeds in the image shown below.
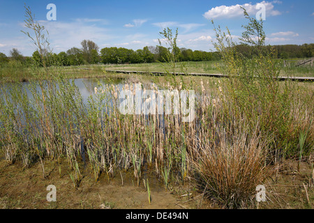
[[[66,163],[63,162],[61,174],[59,167],[54,162],[45,163],[43,178],[42,167],[39,163],[29,169],[22,169],[17,162],[7,165],[0,160],[0,208],[195,208],[197,203],[193,194],[183,196],[184,190],[165,190],[163,184],[150,173],[149,186],[151,190],[151,204],[148,193],[141,180],[137,186],[132,173],[121,171],[110,181],[105,174],[95,182],[91,170],[87,167],[83,172],[80,187],[75,189],[68,174]],[[57,201],[47,201],[48,185],[57,188]],[[181,194],[180,194],[181,193]],[[191,201],[186,202],[186,200]]]

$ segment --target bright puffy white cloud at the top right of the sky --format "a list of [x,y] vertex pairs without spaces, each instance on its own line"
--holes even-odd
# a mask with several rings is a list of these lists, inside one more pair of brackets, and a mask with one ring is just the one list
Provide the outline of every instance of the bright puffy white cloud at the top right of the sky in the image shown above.
[[[281,3],[281,1],[262,1],[260,2],[264,4],[266,8],[266,15],[281,15],[281,12],[278,10],[274,10],[273,3]],[[206,13],[204,13],[204,17],[208,20],[212,19],[220,19],[220,18],[233,18],[233,17],[241,17],[243,16],[243,10],[241,7],[245,8],[249,15],[257,13],[260,8],[256,8],[257,3],[253,5],[252,3],[244,3],[243,5],[234,5],[234,6],[216,6],[215,8],[211,8]]]

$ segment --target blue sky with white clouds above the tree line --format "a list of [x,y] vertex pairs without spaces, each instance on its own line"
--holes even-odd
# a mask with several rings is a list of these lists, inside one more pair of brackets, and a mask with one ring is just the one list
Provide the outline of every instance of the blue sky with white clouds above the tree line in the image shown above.
[[[24,56],[36,49],[21,30],[24,27],[24,3],[50,33],[54,52],[80,47],[84,39],[98,46],[142,49],[158,45],[159,31],[169,26],[179,29],[178,45],[193,50],[213,50],[216,25],[228,26],[237,40],[246,24],[239,6],[255,17],[257,3],[266,9],[264,29],[267,44],[285,45],[314,43],[314,1],[82,1],[82,0],[0,0],[0,52],[8,55],[13,47]],[[57,20],[48,21],[48,3],[57,6]]]

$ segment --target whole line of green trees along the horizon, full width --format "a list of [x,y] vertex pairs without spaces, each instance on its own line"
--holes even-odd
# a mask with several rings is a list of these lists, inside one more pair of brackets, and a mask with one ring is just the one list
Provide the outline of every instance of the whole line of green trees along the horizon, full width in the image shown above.
[[[82,47],[72,47],[66,52],[55,54],[45,52],[47,66],[78,66],[83,64],[97,63],[154,63],[166,62],[169,49],[157,45],[146,46],[143,49],[126,49],[124,47],[105,47],[99,49],[98,45],[91,40],[83,40]],[[255,48],[249,45],[237,45],[237,51],[246,57],[255,54]],[[274,45],[273,47],[278,59],[309,58],[314,57],[314,44],[304,45]],[[220,59],[218,52],[204,52],[186,48],[176,48],[174,50],[179,61],[217,61]],[[43,66],[42,57],[38,51],[33,52],[31,57],[23,56],[16,48],[10,50],[10,56],[0,53],[0,65],[9,61],[18,61],[25,65]]]

